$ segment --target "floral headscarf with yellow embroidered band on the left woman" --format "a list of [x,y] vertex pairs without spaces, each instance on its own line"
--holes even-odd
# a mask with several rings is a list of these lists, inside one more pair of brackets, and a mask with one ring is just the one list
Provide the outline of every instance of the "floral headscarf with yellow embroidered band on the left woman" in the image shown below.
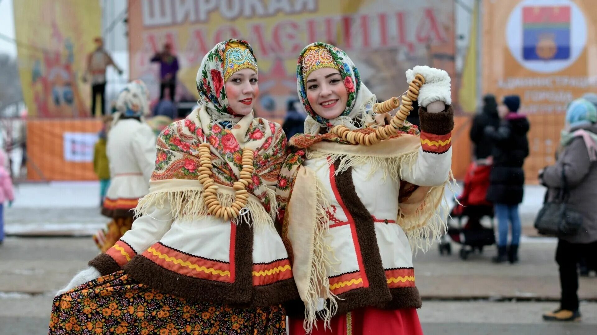
[[245,41],[229,39],[220,42],[205,55],[196,83],[201,103],[207,107],[208,113],[220,120],[240,119],[228,104],[224,78],[228,79],[236,71],[247,68],[257,72],[253,49]]

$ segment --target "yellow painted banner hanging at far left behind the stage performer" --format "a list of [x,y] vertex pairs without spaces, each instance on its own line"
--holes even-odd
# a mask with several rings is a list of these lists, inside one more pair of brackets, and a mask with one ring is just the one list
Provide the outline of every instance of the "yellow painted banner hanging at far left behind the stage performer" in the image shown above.
[[90,116],[81,81],[85,56],[101,34],[99,1],[14,1],[23,98],[30,116]]

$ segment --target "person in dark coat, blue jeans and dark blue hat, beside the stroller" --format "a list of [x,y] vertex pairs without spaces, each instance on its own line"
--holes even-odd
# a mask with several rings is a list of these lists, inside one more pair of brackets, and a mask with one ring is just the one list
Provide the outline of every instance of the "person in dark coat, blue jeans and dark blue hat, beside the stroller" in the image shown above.
[[[500,126],[485,128],[485,135],[493,141],[493,168],[490,173],[490,187],[487,200],[495,205],[498,220],[498,255],[493,259],[496,263],[509,260],[518,262],[518,245],[521,236],[521,220],[518,215],[518,204],[522,202],[524,192],[524,170],[522,164],[528,156],[527,132],[530,128],[524,114],[518,114],[520,107],[518,95],[504,97],[498,106],[501,118]],[[512,226],[510,247],[507,247],[508,221]]]

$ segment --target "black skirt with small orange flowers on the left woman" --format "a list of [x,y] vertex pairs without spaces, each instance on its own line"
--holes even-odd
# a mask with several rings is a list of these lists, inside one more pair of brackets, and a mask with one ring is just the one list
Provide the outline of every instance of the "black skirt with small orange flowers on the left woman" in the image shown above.
[[280,305],[232,308],[160,293],[118,271],[54,298],[49,334],[286,334]]

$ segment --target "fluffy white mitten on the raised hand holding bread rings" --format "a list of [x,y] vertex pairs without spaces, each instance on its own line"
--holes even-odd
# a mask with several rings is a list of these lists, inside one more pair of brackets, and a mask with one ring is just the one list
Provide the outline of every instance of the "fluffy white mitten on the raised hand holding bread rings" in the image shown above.
[[450,75],[447,72],[435,67],[417,65],[412,70],[407,70],[407,83],[413,81],[417,74],[425,78],[425,83],[418,92],[418,106],[427,107],[435,101],[443,101],[447,105],[452,103]]

